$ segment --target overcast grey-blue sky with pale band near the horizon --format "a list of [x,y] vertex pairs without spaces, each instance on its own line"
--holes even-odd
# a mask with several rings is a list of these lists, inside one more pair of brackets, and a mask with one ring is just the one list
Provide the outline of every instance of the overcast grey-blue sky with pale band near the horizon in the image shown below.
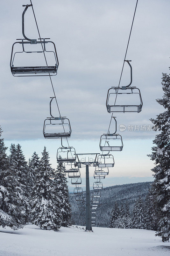
[[[119,82],[136,0],[32,3],[41,37],[50,37],[56,45],[59,68],[52,81],[61,116],[70,119],[69,144],[77,153],[100,152],[100,136],[107,132],[110,122],[105,105],[107,91]],[[22,4],[29,1],[1,3],[0,124],[7,146],[19,142],[28,160],[34,150],[40,154],[46,145],[56,167],[60,140],[47,141],[42,133],[44,119],[49,116],[49,97],[53,96],[49,77],[13,77],[10,71],[12,44],[23,37]],[[168,0],[138,1],[127,59],[132,60],[132,85],[141,91],[143,108],[139,114],[118,113],[118,132],[119,124],[147,127],[151,117],[164,111],[155,99],[163,94],[161,76],[169,72],[170,66],[169,9]],[[31,8],[25,15],[25,35],[38,38]],[[129,80],[126,64],[121,85],[129,84]],[[59,115],[55,106],[53,112]],[[114,123],[110,130],[114,130]],[[151,151],[155,132],[126,129],[121,134],[124,149],[114,154],[110,177],[150,177],[153,162],[146,154]]]

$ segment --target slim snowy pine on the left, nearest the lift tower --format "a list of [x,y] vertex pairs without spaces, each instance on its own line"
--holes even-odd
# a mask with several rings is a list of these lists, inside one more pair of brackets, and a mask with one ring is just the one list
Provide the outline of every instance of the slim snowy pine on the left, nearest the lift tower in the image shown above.
[[[61,158],[61,156],[59,156]],[[57,170],[55,171],[55,187],[56,196],[59,196],[60,205],[58,207],[61,209],[62,223],[61,226],[68,227],[71,221],[71,205],[69,203],[69,193],[67,186],[67,178],[64,172],[65,167],[62,162],[58,162]],[[56,201],[57,203],[57,201]]]

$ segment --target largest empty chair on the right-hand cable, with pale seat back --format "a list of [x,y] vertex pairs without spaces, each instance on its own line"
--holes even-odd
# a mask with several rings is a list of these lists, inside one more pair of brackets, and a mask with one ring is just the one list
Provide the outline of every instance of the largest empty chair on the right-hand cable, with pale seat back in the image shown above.
[[[142,110],[142,97],[137,87],[129,87],[132,83],[132,67],[129,61],[125,60],[131,68],[131,82],[127,86],[111,87],[107,93],[106,107],[109,113],[139,113]],[[116,100],[118,103],[116,104]]]

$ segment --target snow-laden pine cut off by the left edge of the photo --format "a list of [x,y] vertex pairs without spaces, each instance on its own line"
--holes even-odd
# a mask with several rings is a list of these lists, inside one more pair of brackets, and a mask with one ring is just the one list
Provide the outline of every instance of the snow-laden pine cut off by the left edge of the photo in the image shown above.
[[[0,127],[0,137],[2,129]],[[15,145],[13,145],[15,148]],[[23,228],[23,207],[20,200],[16,174],[9,167],[4,139],[0,139],[0,226],[12,229]]]

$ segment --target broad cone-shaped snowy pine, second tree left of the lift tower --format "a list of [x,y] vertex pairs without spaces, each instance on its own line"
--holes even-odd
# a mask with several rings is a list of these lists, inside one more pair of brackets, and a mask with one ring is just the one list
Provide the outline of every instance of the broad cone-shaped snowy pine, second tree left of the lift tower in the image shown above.
[[61,213],[53,181],[54,169],[50,165],[49,154],[44,147],[32,191],[32,216],[33,224],[40,228],[58,230]]

